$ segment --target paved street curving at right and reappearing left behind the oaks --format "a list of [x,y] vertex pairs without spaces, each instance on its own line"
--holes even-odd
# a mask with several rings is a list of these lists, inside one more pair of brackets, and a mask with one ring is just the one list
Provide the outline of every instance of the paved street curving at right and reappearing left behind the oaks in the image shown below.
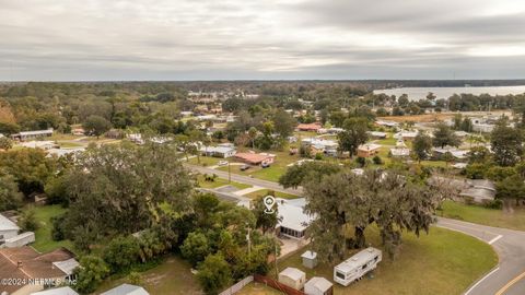
[[[188,168],[208,174],[217,174],[228,179],[228,172],[185,164]],[[231,174],[232,181],[259,186],[276,191],[302,194],[302,188],[284,189],[279,184]],[[491,245],[500,258],[499,264],[487,275],[475,282],[465,295],[524,295],[525,294],[525,232],[479,225],[463,221],[438,217],[438,226],[462,232]]]

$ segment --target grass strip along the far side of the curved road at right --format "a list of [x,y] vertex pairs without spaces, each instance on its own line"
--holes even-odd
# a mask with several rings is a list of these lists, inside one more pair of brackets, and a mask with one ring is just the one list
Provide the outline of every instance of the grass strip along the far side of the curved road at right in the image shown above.
[[497,227],[525,231],[525,209],[514,209],[513,213],[498,209],[488,209],[480,205],[467,205],[453,201],[442,204],[440,215],[448,219],[462,220]]

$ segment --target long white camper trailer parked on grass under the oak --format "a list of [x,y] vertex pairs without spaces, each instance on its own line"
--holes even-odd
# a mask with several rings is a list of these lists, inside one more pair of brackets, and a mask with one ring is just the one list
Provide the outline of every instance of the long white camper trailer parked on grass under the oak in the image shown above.
[[369,247],[336,266],[334,268],[334,281],[348,286],[353,281],[361,279],[368,272],[377,268],[377,263],[381,260],[381,250]]

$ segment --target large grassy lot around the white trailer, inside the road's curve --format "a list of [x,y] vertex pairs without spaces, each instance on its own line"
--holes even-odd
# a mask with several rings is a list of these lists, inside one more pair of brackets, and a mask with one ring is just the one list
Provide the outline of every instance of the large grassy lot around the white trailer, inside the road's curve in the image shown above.
[[[376,229],[368,231],[366,236],[368,243],[380,245]],[[460,233],[432,227],[429,235],[417,238],[404,234],[402,239],[397,259],[390,261],[383,257],[373,279],[364,279],[348,287],[335,284],[334,294],[462,294],[498,263],[489,245]],[[305,269],[301,263],[302,252],[280,261],[279,270],[295,267],[306,272],[307,280],[320,275],[332,281],[332,266]],[[275,270],[270,273],[275,275]]]

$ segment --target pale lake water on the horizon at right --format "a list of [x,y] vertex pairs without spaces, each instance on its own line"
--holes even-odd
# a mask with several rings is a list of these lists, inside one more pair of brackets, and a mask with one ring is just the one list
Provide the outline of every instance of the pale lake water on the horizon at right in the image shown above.
[[374,94],[384,93],[386,95],[396,95],[399,97],[407,94],[410,101],[419,101],[427,97],[427,94],[432,92],[438,98],[448,98],[454,93],[469,93],[490,95],[506,95],[506,94],[523,94],[525,93],[525,85],[523,86],[490,86],[490,87],[406,87],[406,88],[390,88],[390,90],[375,90]]

